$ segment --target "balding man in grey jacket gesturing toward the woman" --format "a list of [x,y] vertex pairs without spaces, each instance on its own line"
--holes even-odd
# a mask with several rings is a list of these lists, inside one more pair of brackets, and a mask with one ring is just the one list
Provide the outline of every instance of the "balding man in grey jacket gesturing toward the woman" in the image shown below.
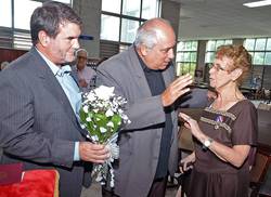
[[178,167],[175,101],[192,83],[189,75],[175,80],[175,45],[170,24],[153,18],[139,28],[133,45],[98,67],[98,81],[128,100],[131,120],[119,134],[115,188],[104,188],[104,196],[165,196],[168,171]]

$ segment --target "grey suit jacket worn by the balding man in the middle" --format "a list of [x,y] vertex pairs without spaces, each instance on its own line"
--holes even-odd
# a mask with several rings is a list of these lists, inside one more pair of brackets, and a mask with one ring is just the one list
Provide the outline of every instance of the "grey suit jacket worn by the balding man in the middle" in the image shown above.
[[[115,170],[115,193],[121,197],[144,197],[154,180],[162,139],[162,129],[149,129],[165,122],[160,95],[152,96],[133,47],[98,67],[98,82],[115,87],[115,93],[128,100],[131,120],[120,133],[119,166]],[[173,66],[163,71],[166,86],[175,78]],[[178,161],[177,114],[171,113],[173,132],[170,142],[169,171]]]

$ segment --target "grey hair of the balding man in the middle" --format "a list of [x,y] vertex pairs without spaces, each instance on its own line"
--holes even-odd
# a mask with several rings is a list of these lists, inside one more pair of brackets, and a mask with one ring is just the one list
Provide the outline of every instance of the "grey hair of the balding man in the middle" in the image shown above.
[[170,25],[170,23],[164,18],[153,18],[146,21],[137,31],[134,40],[136,48],[144,44],[146,48],[152,49],[155,44],[157,44],[160,29],[158,27],[155,27],[155,25],[153,24],[154,21],[159,21]]

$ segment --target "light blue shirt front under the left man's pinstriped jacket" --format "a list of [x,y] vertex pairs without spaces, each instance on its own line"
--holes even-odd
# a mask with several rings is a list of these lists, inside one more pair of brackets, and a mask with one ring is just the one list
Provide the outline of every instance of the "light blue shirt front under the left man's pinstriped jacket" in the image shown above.
[[79,109],[81,105],[81,92],[76,81],[70,76],[70,71],[72,71],[72,68],[69,65],[62,66],[55,74],[55,77],[61,83],[61,87],[63,88],[66,96],[68,97],[68,101],[74,109],[74,113],[79,120]]

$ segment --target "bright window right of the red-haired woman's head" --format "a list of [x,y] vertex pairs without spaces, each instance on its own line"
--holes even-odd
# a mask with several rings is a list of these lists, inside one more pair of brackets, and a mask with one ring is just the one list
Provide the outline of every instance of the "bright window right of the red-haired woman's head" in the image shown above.
[[244,47],[251,54],[253,65],[271,66],[271,38],[249,38]]

